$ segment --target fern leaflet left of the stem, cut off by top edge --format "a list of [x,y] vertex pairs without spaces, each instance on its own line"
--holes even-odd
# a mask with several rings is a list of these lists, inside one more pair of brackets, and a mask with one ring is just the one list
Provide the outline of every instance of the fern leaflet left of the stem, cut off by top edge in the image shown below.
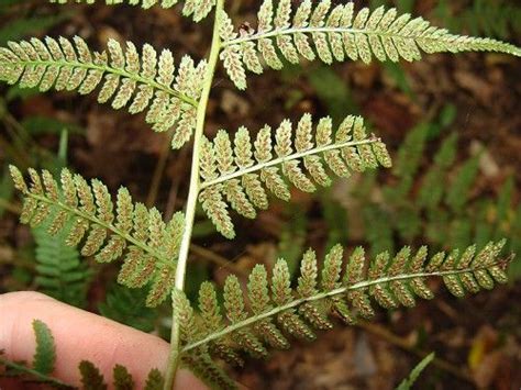
[[[68,2],[93,4],[96,0],[49,0],[52,3],[66,4]],[[101,0],[99,0],[101,2]],[[147,10],[154,5],[160,5],[164,9],[173,8],[179,0],[104,0],[107,5],[129,4],[140,5]],[[210,11],[215,7],[215,0],[185,0],[182,14],[191,16],[193,21],[199,22],[207,18]]]

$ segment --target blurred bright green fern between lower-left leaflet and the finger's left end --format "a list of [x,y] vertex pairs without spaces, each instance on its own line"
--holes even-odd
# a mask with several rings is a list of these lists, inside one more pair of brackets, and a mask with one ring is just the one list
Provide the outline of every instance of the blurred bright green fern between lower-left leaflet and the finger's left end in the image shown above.
[[71,223],[56,235],[48,233],[49,227],[51,223],[46,221],[32,231],[36,243],[36,286],[62,302],[85,308],[91,272],[80,261],[78,249],[65,245]]

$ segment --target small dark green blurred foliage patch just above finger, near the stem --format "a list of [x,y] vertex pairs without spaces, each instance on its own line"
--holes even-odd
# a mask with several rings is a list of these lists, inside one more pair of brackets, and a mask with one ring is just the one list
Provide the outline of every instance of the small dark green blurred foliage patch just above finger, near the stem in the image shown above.
[[146,296],[144,289],[130,290],[114,285],[98,309],[108,319],[149,333],[155,328],[157,312],[146,307]]

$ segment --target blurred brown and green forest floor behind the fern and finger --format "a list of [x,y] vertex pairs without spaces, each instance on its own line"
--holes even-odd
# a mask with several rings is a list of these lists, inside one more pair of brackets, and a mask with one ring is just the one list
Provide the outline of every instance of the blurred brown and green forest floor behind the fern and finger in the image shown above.
[[[112,37],[170,48],[176,58],[206,55],[211,20],[196,25],[177,9],[145,12],[101,3],[1,0],[0,45],[29,36],[80,35],[95,49]],[[516,0],[356,1],[357,7],[380,4],[455,33],[521,45]],[[237,25],[255,26],[258,5],[228,0]],[[246,92],[219,73],[207,135],[240,125],[255,132],[308,111],[315,118],[330,114],[336,123],[356,113],[387,143],[395,167],[335,181],[318,196],[295,192],[290,205],[274,202],[253,222],[235,215],[233,243],[201,213],[189,266],[190,297],[206,279],[219,285],[230,272],[245,276],[253,265],[270,267],[281,256],[296,272],[310,246],[323,254],[335,243],[364,245],[370,253],[429,244],[434,252],[507,237],[508,252],[521,253],[519,64],[503,55],[462,54],[425,56],[414,64],[287,65],[281,73],[251,75]],[[44,227],[19,225],[20,202],[7,167],[57,172],[68,166],[100,178],[112,192],[129,187],[135,200],[157,205],[169,219],[184,207],[191,159],[189,147],[171,152],[169,145],[169,134],[154,134],[142,116],[97,104],[96,94],[40,94],[0,86],[0,293],[43,291],[166,336],[168,304],[144,309],[144,291],[117,286],[117,266],[80,258]],[[421,388],[519,389],[521,261],[512,264],[509,285],[490,293],[458,300],[435,281],[432,288],[439,297],[433,302],[380,311],[370,324],[337,326],[312,345],[296,343],[266,363],[248,363],[235,376],[252,389],[391,389],[422,354],[436,352]]]

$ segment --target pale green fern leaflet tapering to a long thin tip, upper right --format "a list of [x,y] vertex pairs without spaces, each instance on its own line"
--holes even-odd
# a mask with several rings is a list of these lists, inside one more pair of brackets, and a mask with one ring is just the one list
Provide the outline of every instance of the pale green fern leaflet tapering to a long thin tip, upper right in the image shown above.
[[421,59],[421,52],[500,52],[521,56],[514,45],[491,38],[451,34],[432,26],[422,18],[384,7],[355,12],[354,2],[333,5],[331,0],[313,3],[299,2],[296,10],[291,0],[265,0],[258,12],[257,31],[237,34],[228,29],[221,33],[221,58],[239,89],[246,88],[245,70],[263,71],[260,58],[274,69],[280,69],[284,59],[298,64],[300,58],[325,64],[334,60],[361,59],[368,64],[377,60],[408,62]]

